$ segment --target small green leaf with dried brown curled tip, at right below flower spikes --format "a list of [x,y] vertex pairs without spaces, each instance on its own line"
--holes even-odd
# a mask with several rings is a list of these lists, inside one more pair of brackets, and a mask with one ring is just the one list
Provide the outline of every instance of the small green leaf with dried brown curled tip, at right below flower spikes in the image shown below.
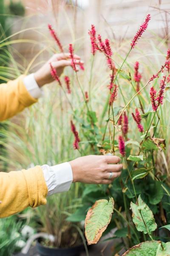
[[[141,143],[142,145],[142,143]],[[164,139],[159,139],[159,138],[150,138],[147,137],[146,140],[144,141],[143,148],[145,150],[160,150],[162,151],[165,149],[166,144]]]

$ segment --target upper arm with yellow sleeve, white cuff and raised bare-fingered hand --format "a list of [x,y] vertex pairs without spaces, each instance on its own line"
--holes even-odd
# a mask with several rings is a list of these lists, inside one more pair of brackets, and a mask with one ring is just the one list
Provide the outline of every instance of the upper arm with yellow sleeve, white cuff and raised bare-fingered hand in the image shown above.
[[[74,55],[75,63],[79,65],[80,57]],[[69,53],[54,54],[36,73],[34,79],[37,82],[37,87],[42,87],[44,84],[51,83],[51,63],[57,70],[57,75],[60,76],[64,67],[71,66]],[[28,79],[32,82],[33,79]],[[14,81],[9,81],[7,84],[0,84],[0,121],[8,119],[24,108],[37,102],[37,93],[34,93],[31,82],[28,84],[27,77],[20,76]],[[40,90],[40,89],[39,89]],[[32,93],[33,92],[33,93]]]

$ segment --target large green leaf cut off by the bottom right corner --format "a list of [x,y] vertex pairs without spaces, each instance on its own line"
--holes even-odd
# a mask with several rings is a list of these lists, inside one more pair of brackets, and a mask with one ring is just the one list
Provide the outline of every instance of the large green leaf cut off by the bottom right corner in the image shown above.
[[146,241],[133,246],[122,256],[170,256],[170,242]]

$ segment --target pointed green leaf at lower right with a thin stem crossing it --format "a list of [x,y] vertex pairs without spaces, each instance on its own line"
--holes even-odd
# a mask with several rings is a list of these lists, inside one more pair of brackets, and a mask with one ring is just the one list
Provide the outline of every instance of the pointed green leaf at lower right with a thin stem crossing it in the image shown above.
[[155,223],[153,212],[150,210],[147,204],[144,203],[140,195],[138,198],[138,205],[131,202],[130,207],[133,212],[133,222],[136,225],[136,229],[138,231],[147,234],[156,230],[157,224]]

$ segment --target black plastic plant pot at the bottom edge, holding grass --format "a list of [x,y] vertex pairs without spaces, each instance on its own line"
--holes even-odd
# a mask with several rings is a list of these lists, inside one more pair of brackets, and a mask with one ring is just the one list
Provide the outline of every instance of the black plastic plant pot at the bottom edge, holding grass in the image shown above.
[[50,248],[43,246],[37,241],[37,253],[40,256],[79,256],[82,251],[84,251],[84,245],[70,247],[70,248]]

